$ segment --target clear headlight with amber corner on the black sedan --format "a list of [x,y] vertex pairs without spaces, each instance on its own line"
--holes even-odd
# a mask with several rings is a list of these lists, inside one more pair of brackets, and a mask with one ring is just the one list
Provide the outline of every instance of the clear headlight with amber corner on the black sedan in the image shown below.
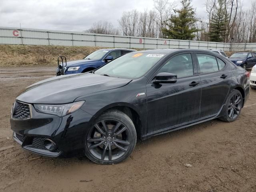
[[34,104],[37,112],[57,115],[59,117],[68,115],[78,110],[85,101],[78,101],[74,103],[52,105],[52,104]]

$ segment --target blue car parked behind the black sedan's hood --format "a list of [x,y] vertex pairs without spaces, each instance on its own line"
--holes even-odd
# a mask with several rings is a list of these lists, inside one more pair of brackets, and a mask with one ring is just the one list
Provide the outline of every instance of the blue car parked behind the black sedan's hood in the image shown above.
[[[113,60],[126,53],[133,52],[132,49],[114,48],[114,49],[100,49],[92,52],[82,60],[67,62],[64,64],[64,74],[75,74],[92,71],[100,66],[106,64],[110,60]],[[58,72],[58,68],[56,73]],[[58,74],[57,74],[58,75]]]

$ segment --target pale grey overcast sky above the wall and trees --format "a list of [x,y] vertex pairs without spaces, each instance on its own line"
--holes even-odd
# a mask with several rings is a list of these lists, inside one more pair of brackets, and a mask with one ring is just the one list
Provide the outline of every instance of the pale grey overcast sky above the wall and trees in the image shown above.
[[[204,1],[192,0],[198,17],[206,17]],[[250,2],[251,0],[244,0]],[[180,6],[180,0],[176,1]],[[0,0],[0,26],[83,31],[106,20],[118,27],[123,11],[153,9],[153,0]]]

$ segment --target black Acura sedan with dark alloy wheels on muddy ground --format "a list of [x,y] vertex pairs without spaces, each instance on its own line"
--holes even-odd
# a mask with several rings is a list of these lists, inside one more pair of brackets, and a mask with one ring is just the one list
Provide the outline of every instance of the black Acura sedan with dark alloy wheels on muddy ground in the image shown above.
[[249,73],[206,50],[131,52],[92,72],[33,84],[13,104],[13,138],[31,152],[126,159],[137,138],[214,118],[232,122],[249,96]]

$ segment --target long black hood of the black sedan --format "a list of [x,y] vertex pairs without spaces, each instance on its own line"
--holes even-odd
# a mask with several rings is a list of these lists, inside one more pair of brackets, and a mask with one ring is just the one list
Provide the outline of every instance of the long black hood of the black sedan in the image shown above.
[[56,76],[28,86],[16,99],[26,103],[64,104],[86,94],[125,86],[130,81],[92,73]]

